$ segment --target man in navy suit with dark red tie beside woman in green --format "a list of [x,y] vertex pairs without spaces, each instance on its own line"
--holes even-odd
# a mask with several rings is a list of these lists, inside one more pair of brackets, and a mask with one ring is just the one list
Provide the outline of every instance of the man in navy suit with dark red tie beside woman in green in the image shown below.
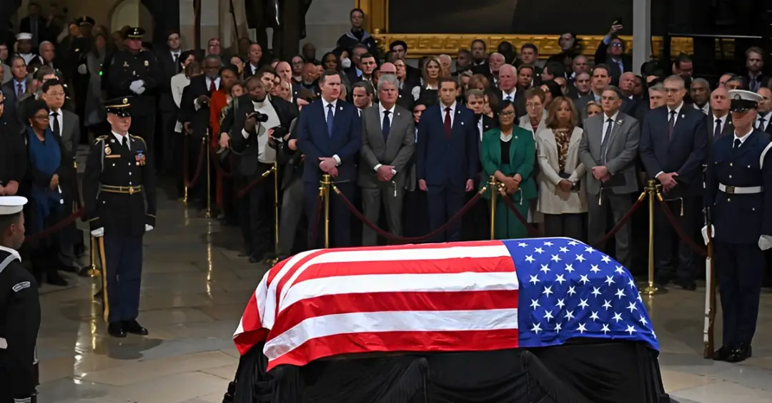
[[[466,192],[477,174],[477,125],[475,116],[455,97],[459,82],[438,80],[440,102],[426,109],[418,125],[418,187],[428,194],[429,227],[435,230],[464,206]],[[453,224],[435,242],[461,239],[461,226]]]

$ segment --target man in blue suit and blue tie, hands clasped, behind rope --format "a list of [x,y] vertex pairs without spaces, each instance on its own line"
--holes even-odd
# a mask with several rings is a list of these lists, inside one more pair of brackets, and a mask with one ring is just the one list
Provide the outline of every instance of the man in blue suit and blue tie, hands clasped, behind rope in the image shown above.
[[[314,222],[319,203],[319,181],[323,174],[332,176],[333,182],[347,199],[354,196],[354,180],[357,174],[356,155],[362,146],[362,119],[357,108],[338,100],[340,76],[334,70],[326,70],[319,79],[321,96],[300,113],[297,146],[306,156],[303,164],[303,200],[309,217],[309,233],[321,234],[322,223]],[[351,245],[351,214],[337,196],[330,196],[330,214],[334,247]],[[317,227],[319,226],[319,227]],[[313,241],[313,240],[312,240]],[[317,235],[320,247],[323,237]]]

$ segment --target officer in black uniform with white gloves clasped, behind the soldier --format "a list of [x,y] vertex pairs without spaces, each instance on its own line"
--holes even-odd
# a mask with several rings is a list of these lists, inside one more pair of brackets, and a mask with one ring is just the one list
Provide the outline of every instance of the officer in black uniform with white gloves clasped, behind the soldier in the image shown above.
[[132,96],[131,132],[141,133],[147,143],[147,159],[153,153],[155,131],[155,95],[164,79],[164,72],[153,52],[142,49],[144,29],[127,31],[124,49],[117,51],[110,62],[108,96]]

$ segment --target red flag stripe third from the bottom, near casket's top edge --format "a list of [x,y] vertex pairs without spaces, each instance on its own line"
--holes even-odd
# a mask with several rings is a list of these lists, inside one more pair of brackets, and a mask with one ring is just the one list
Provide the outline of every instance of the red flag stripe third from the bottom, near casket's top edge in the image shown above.
[[312,264],[303,270],[294,284],[323,277],[361,276],[367,274],[458,274],[515,271],[512,257],[474,257],[441,260],[391,260],[369,262],[330,262]]

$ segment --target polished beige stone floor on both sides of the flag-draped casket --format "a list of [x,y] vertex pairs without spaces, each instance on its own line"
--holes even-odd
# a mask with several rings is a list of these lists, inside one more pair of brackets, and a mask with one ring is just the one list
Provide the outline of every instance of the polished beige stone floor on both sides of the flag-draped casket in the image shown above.
[[[266,270],[239,257],[241,245],[237,229],[161,200],[156,229],[145,237],[144,338],[107,336],[92,301],[95,280],[42,287],[39,401],[222,401],[238,361],[233,331]],[[648,298],[666,390],[682,403],[772,402],[772,295],[762,297],[754,357],[726,364],[702,358],[703,292]]]

